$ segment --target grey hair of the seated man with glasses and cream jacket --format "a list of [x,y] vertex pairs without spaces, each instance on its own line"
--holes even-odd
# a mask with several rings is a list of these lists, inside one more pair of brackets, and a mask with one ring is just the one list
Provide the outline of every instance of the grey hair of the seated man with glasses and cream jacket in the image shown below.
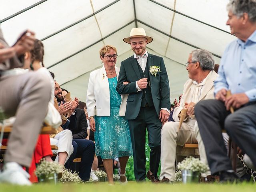
[[199,62],[202,70],[214,70],[213,55],[205,49],[197,49],[191,53],[192,62]]

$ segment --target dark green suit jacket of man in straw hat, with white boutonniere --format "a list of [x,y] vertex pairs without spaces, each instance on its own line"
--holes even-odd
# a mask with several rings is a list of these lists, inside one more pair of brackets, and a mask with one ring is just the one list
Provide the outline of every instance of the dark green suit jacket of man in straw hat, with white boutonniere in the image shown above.
[[[148,68],[151,66],[160,66],[161,71],[158,72],[156,77],[151,73],[149,74],[154,108],[159,115],[161,108],[170,109],[171,106],[169,80],[162,57],[148,53]],[[134,55],[122,61],[116,86],[119,94],[129,94],[125,113],[125,118],[128,120],[135,119],[138,116],[142,102],[142,91],[137,92],[136,89],[136,81],[141,79],[138,67]],[[125,81],[130,83],[123,85]]]

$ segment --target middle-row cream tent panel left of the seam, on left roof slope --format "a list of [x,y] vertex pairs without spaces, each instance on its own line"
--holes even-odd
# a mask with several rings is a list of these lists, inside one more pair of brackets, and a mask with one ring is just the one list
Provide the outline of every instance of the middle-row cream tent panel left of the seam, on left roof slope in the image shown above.
[[[68,37],[68,38],[67,38]],[[100,40],[94,17],[90,17],[43,41],[46,67]]]

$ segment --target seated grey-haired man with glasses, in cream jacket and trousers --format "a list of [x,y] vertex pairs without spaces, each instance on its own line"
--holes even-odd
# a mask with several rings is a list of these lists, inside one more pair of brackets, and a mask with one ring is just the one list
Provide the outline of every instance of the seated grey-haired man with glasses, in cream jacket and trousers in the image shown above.
[[[177,145],[198,143],[200,158],[208,164],[194,116],[194,106],[200,100],[214,98],[213,85],[218,74],[214,71],[212,54],[204,49],[192,51],[186,63],[186,70],[190,79],[184,85],[180,106],[174,109],[172,118],[175,122],[166,122],[161,131],[161,182],[174,181]],[[180,113],[184,108],[187,109],[186,117],[179,129]],[[210,175],[210,172],[202,176],[207,175]]]

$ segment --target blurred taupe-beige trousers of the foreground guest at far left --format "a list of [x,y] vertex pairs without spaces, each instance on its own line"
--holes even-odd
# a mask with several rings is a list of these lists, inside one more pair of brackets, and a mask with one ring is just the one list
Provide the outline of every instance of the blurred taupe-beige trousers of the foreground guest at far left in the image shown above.
[[37,71],[0,79],[0,106],[6,115],[16,116],[5,162],[30,166],[51,91],[49,78]]

